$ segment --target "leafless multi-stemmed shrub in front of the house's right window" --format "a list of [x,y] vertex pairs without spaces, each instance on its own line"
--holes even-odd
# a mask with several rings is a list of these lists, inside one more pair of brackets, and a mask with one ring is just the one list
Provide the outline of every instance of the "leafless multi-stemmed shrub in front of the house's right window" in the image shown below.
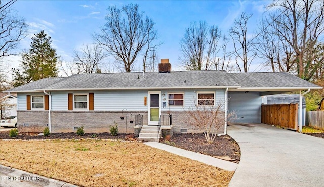
[[214,98],[194,98],[194,106],[189,107],[188,124],[203,131],[206,141],[211,144],[217,136],[218,130],[224,123],[235,118],[235,113],[228,113],[225,117],[224,102],[215,102]]

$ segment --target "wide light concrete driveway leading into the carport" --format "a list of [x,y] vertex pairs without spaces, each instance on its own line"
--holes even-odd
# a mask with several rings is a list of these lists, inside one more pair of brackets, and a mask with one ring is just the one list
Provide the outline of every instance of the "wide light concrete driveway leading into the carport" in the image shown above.
[[241,150],[229,186],[324,186],[324,139],[266,124],[232,124]]

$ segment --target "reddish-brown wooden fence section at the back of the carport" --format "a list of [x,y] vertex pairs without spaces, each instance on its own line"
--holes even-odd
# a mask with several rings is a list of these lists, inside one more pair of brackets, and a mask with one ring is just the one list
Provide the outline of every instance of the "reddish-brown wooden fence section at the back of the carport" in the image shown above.
[[298,104],[261,105],[261,123],[298,129]]

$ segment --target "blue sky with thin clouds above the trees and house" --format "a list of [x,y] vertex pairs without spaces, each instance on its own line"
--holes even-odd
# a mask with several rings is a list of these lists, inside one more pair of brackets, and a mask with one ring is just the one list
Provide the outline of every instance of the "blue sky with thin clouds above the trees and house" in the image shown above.
[[[248,28],[252,36],[257,21],[264,14],[264,5],[269,1],[22,1],[12,8],[26,19],[29,36],[21,42],[22,49],[29,49],[30,38],[44,30],[52,37],[57,54],[66,61],[73,60],[73,50],[92,43],[92,34],[105,24],[108,6],[138,4],[139,9],[156,23],[159,40],[157,53],[160,58],[169,58],[173,70],[180,70],[178,57],[181,54],[179,42],[184,31],[193,21],[206,21],[218,26],[224,34],[233,26],[235,18],[242,12],[253,13]],[[17,66],[13,58],[10,66]],[[136,67],[139,67],[139,63]],[[258,62],[252,67],[260,71]],[[251,71],[254,71],[251,68]]]

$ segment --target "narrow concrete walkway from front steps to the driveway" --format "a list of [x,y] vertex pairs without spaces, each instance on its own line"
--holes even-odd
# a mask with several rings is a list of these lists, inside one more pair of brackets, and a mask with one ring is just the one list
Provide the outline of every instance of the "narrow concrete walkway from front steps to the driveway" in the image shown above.
[[170,152],[170,153],[173,153],[176,155],[180,155],[182,157],[196,160],[196,161],[199,161],[199,162],[211,165],[211,166],[225,169],[227,171],[235,171],[235,169],[237,167],[237,164],[233,163],[233,162],[229,162],[229,161],[225,161],[225,160],[211,157],[208,155],[203,155],[203,154],[195,153],[192,151],[176,148],[176,147],[158,143],[158,142],[146,142],[144,144],[154,147],[154,148],[157,148],[157,149],[160,149],[160,150],[165,150],[167,152]]

